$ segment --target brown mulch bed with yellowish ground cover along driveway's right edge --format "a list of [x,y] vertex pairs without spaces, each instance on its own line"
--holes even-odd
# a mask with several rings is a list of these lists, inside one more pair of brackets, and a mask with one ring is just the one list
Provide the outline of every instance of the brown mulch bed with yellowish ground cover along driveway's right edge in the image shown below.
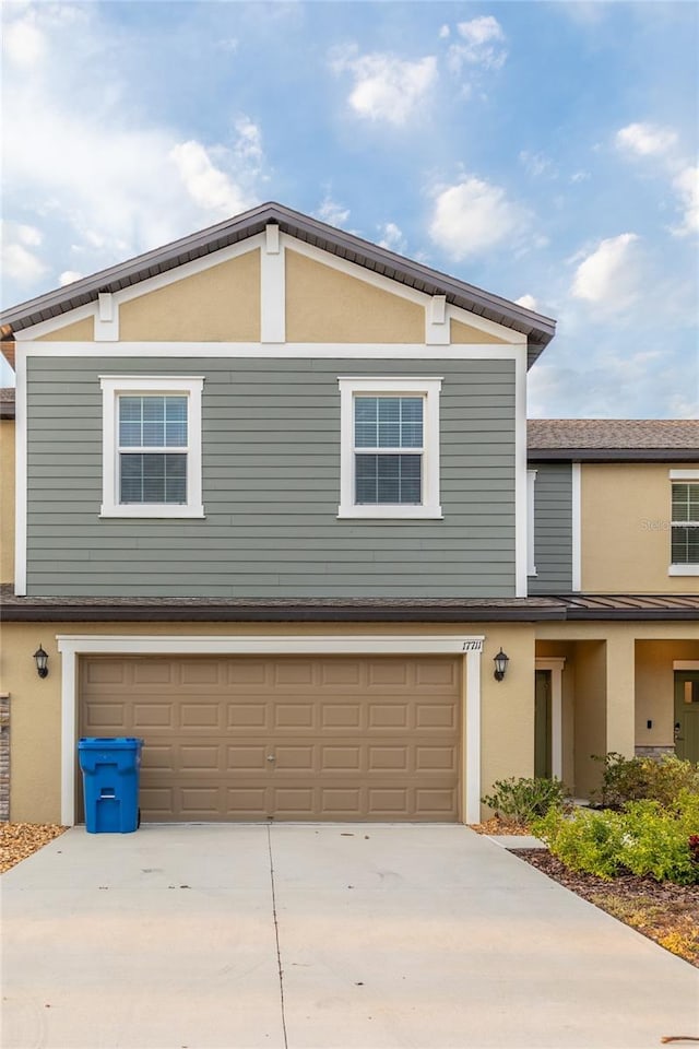
[[620,874],[606,881],[569,870],[547,849],[510,851],[666,951],[699,967],[699,885],[661,883],[635,874]]

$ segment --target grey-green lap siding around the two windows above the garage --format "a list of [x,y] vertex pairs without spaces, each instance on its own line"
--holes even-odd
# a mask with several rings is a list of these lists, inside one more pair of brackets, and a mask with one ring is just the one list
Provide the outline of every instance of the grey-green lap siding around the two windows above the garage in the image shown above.
[[[100,519],[100,375],[201,375],[203,520]],[[339,376],[442,376],[443,520],[339,520]],[[29,357],[31,596],[512,597],[514,363]]]

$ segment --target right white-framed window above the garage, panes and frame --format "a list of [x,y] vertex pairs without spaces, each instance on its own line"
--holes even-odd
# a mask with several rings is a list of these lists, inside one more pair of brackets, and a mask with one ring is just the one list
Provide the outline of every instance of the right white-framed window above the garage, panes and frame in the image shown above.
[[441,378],[341,377],[339,517],[440,518]]

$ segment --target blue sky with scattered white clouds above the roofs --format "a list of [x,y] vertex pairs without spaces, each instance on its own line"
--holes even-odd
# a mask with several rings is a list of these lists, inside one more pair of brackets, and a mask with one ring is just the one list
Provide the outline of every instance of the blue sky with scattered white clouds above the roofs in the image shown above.
[[555,317],[530,415],[699,414],[694,2],[3,22],[3,306],[276,200]]

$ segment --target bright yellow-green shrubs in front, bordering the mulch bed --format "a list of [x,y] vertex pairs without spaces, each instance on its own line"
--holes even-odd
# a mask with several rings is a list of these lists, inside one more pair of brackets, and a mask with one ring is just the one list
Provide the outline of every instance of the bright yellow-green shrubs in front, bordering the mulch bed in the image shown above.
[[692,839],[699,827],[699,794],[683,788],[673,809],[657,801],[628,802],[623,812],[552,811],[533,833],[566,867],[611,879],[624,871],[678,885],[699,883]]

